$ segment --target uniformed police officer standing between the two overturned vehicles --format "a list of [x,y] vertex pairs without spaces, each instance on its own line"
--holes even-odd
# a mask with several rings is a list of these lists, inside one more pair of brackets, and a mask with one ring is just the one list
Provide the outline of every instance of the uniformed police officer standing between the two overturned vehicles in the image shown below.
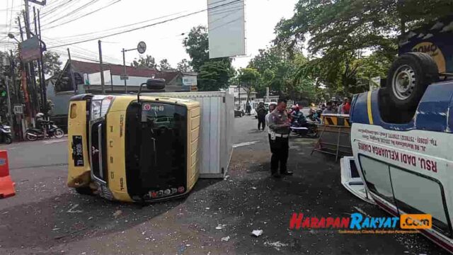
[[[277,101],[277,107],[270,113],[269,116],[269,142],[270,152],[270,174],[275,178],[280,178],[282,175],[292,175],[292,171],[287,169],[287,159],[289,151],[289,126],[290,120],[286,111],[285,99]],[[280,174],[278,173],[278,165],[280,163]]]

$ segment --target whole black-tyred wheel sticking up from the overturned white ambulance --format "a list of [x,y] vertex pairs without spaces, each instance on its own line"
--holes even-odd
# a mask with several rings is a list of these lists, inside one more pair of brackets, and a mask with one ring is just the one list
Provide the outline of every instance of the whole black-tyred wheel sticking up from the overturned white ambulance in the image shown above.
[[408,52],[391,64],[386,89],[396,108],[413,111],[428,85],[438,79],[437,64],[430,55]]

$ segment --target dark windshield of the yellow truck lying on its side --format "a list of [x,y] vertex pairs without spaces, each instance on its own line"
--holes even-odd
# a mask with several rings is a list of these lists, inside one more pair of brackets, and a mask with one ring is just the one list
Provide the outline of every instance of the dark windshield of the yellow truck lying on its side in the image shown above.
[[127,108],[128,192],[186,188],[187,110],[169,103],[143,102]]

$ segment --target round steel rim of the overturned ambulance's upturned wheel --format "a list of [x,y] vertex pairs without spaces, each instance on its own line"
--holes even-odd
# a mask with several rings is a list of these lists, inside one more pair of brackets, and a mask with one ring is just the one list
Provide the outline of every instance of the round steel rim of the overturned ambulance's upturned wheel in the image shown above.
[[406,100],[411,96],[412,91],[415,88],[415,82],[415,72],[412,67],[409,67],[408,65],[399,67],[391,82],[396,98],[399,100]]

